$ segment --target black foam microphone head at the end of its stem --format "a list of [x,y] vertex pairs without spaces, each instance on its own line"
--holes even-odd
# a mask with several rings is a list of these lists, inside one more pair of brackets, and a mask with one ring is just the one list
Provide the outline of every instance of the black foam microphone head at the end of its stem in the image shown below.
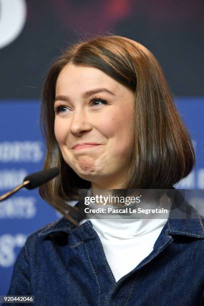
[[49,181],[50,179],[54,178],[56,175],[59,174],[59,168],[49,168],[46,170],[41,170],[32,174],[25,176],[23,181],[29,180],[30,182],[25,185],[24,187],[27,189],[34,189],[45,182]]

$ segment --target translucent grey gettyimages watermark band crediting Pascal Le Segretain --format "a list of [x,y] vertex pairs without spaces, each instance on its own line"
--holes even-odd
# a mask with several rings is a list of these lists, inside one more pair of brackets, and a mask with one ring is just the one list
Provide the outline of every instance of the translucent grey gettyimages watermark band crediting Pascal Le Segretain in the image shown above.
[[203,189],[79,189],[81,218],[198,218]]

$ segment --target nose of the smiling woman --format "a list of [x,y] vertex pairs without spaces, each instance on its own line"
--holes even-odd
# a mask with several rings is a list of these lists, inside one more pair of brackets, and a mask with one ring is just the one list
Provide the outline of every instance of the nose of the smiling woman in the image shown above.
[[70,132],[74,135],[80,135],[82,132],[91,130],[91,124],[84,110],[73,111]]

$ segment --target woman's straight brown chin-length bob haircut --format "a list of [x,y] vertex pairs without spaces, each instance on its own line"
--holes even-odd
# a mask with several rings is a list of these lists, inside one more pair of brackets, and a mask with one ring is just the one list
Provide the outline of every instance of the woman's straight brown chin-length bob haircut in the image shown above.
[[60,175],[39,187],[40,196],[65,218],[78,207],[78,189],[91,187],[63,160],[54,135],[55,84],[67,64],[95,67],[130,88],[134,94],[134,147],[124,189],[168,189],[187,176],[195,162],[189,134],[168,89],[159,63],[140,43],[122,36],[96,35],[70,45],[51,65],[42,89],[40,124],[46,143],[44,169]]

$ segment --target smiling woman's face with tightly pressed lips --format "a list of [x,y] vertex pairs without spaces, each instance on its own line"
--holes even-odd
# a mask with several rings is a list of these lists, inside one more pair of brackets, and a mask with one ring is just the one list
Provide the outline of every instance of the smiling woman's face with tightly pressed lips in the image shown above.
[[[58,75],[55,137],[64,161],[92,188],[119,188],[126,179],[133,105],[134,93],[97,68],[68,63]],[[73,148],[81,143],[92,145]]]

